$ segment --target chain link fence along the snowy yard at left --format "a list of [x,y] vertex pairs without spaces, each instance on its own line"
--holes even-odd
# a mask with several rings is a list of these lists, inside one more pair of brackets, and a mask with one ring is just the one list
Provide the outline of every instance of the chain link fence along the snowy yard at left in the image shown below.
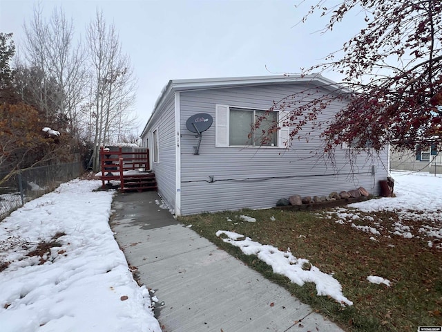
[[[0,185],[0,221],[24,203],[52,192],[61,183],[79,177],[82,163],[68,163],[26,169]],[[1,173],[4,178],[8,173]]]

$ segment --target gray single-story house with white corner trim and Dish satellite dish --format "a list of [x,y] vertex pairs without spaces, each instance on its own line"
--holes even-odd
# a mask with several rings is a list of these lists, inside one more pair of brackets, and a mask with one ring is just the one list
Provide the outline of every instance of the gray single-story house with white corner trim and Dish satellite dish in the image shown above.
[[[330,165],[326,157],[316,154],[321,151],[318,137],[309,142],[295,140],[285,149],[289,138],[285,126],[267,146],[247,138],[254,116],[308,86],[319,94],[338,89],[320,75],[169,81],[141,136],[144,147],[150,149],[151,169],[162,199],[175,214],[184,215],[271,208],[278,199],[293,194],[325,196],[357,187],[379,194],[378,181],[387,178],[387,151],[380,158],[366,158],[361,152],[350,165],[348,150],[338,149],[336,164]],[[334,102],[319,120],[333,118],[343,105]],[[186,120],[198,113],[213,118],[211,127],[202,133],[199,149],[198,137],[186,128]],[[276,110],[269,118],[284,116]]]

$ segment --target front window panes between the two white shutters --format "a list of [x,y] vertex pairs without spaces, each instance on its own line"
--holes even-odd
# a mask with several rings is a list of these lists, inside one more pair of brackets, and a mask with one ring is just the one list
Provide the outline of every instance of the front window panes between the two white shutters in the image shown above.
[[[261,116],[266,118],[261,121],[259,129],[251,131],[253,124]],[[252,145],[259,147],[261,145],[268,147],[278,146],[277,132],[268,133],[272,125],[278,122],[278,112],[261,111],[257,109],[238,109],[230,107],[229,109],[229,145],[244,146]],[[264,131],[264,132],[263,132]],[[249,133],[251,137],[249,138]],[[265,139],[265,142],[262,140]]]

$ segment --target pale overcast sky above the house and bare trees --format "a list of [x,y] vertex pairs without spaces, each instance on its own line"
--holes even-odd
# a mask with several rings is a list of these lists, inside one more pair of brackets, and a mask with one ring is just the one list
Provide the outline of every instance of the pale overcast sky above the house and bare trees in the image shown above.
[[[35,0],[0,0],[0,32],[23,44]],[[134,111],[140,130],[163,86],[174,79],[299,73],[342,46],[361,29],[355,13],[333,33],[317,31],[327,19],[316,15],[296,25],[316,0],[42,0],[45,15],[62,6],[76,33],[102,9],[119,31],[138,80]],[[337,3],[338,0],[332,0]],[[267,66],[267,68],[266,68]],[[339,80],[333,73],[325,73]]]

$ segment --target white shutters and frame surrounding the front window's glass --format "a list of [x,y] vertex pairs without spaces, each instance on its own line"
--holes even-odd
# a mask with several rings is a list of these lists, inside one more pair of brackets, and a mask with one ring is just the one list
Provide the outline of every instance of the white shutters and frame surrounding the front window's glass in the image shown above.
[[[289,112],[287,111],[280,111],[279,109],[273,110],[273,112],[278,113],[278,145],[277,146],[267,146],[267,145],[230,145],[229,142],[229,116],[230,116],[230,108],[233,109],[247,109],[247,110],[255,110],[255,111],[268,111],[268,109],[257,109],[257,108],[251,108],[251,107],[239,107],[239,106],[233,106],[233,105],[222,105],[222,104],[216,104],[215,105],[215,147],[226,147],[229,149],[286,149],[285,142],[289,141],[289,133],[290,133],[290,127],[287,126],[287,115]],[[223,114],[225,112],[225,114]],[[220,120],[220,116],[225,116],[226,118],[223,119],[224,121]],[[286,124],[284,124],[286,123]],[[226,137],[223,137],[224,140],[220,138],[222,135],[226,135]]]

